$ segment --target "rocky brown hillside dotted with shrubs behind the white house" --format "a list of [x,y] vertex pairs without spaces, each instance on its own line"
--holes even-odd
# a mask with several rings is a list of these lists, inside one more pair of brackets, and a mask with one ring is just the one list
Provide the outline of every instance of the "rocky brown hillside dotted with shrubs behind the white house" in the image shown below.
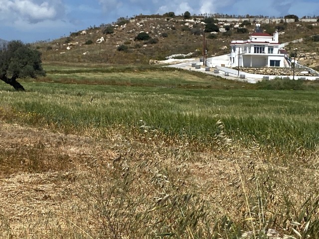
[[[186,20],[181,16],[167,18],[159,16],[138,16],[134,19],[120,18],[118,22],[103,24],[101,27],[89,27],[87,30],[72,32],[69,36],[51,42],[36,43],[42,52],[45,62],[96,62],[108,64],[148,64],[150,59],[163,60],[173,54],[192,53],[191,57],[202,54],[203,33],[207,18]],[[234,39],[247,39],[249,33],[254,32],[254,23],[241,21],[218,22],[219,28],[226,32],[211,34],[205,32],[208,57],[229,52],[229,43]],[[238,25],[247,28],[248,32],[240,33]],[[319,34],[319,25],[314,22],[281,22],[262,23],[265,32],[272,32],[276,28],[280,32],[280,41],[288,42],[295,39]],[[136,40],[140,32],[146,32],[151,39]],[[103,37],[105,42],[96,41]],[[300,45],[299,45],[300,44]],[[118,47],[121,46],[121,51]],[[308,47],[311,46],[311,47]],[[303,44],[289,45],[286,49],[291,53],[295,48],[298,53],[311,58],[303,58],[305,64],[318,67],[316,54],[319,54],[319,43],[310,39]],[[68,49],[69,50],[68,50]],[[315,57],[315,58],[314,58]]]

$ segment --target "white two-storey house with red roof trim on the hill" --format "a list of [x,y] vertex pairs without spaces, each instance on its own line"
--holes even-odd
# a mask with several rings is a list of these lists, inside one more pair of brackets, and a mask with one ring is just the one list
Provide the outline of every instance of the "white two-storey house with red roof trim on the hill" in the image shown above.
[[[257,25],[257,24],[256,24]],[[258,26],[256,26],[256,29]],[[273,35],[252,33],[248,40],[234,40],[230,44],[231,67],[286,67],[291,68],[288,54],[279,43],[278,31]]]

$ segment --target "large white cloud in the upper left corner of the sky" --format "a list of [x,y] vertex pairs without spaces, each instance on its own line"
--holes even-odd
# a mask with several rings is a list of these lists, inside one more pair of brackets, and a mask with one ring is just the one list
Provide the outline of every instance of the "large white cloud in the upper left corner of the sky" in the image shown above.
[[22,20],[37,23],[64,15],[61,0],[0,0],[2,20]]

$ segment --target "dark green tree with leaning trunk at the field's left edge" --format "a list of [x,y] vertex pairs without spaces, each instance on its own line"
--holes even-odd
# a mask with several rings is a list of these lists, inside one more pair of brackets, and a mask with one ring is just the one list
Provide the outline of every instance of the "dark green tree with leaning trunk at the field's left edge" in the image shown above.
[[21,41],[10,41],[0,51],[0,80],[17,91],[24,91],[16,81],[18,78],[36,78],[45,75],[42,68],[41,53]]

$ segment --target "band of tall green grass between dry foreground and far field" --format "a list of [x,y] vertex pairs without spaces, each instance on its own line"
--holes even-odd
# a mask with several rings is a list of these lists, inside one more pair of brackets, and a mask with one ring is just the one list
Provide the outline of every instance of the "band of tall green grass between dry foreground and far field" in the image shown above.
[[[164,87],[123,87],[24,83],[28,91],[1,91],[4,108],[22,115],[14,118],[39,126],[53,125],[65,132],[123,125],[187,137],[211,146],[221,119],[233,140],[293,153],[314,150],[319,142],[319,95],[316,91],[212,90]],[[91,102],[91,97],[93,101]],[[9,99],[9,101],[7,100]],[[2,116],[5,118],[5,116]]]

